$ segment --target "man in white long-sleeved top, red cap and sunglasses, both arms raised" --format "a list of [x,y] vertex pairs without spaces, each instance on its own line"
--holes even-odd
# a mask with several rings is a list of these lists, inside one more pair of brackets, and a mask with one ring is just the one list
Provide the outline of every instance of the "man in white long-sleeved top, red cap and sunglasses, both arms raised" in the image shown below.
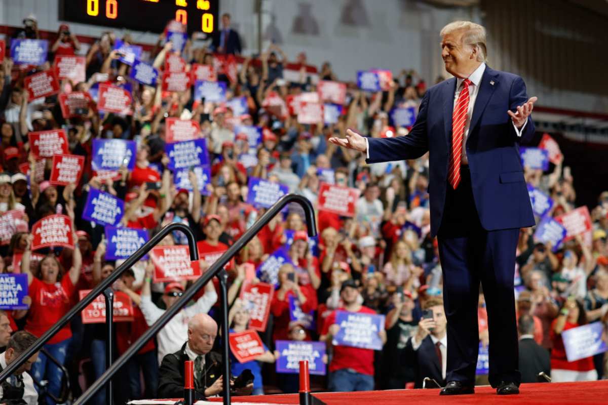
[[[202,261],[202,260],[201,260]],[[201,263],[201,267],[204,262]],[[157,319],[165,313],[165,310],[157,307],[152,302],[150,284],[152,282],[152,273],[154,265],[148,264],[146,268],[146,278],[143,282],[141,302],[136,302],[142,310],[143,316],[148,325],[154,324]],[[197,314],[206,314],[209,312],[213,304],[218,300],[218,294],[215,292],[213,282],[208,282],[204,287],[205,293],[199,298],[194,305],[182,308],[176,313],[171,321],[162,328],[156,335],[158,341],[158,362],[161,364],[162,358],[169,353],[177,352],[188,338],[188,321]],[[162,295],[162,301],[167,308],[170,308],[184,294],[184,286],[179,282],[171,282],[165,286],[165,292]]]

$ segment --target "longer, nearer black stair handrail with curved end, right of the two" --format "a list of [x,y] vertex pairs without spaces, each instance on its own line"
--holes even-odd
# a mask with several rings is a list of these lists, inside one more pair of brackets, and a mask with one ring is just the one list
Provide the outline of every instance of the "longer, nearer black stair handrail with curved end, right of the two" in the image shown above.
[[[316,236],[317,234],[317,226],[316,221],[314,219],[314,209],[311,202],[306,199],[306,197],[298,196],[296,194],[287,194],[286,196],[278,199],[271,208],[266,210],[266,213],[263,214],[258,220],[245,231],[243,236],[241,236],[227,251],[224,252],[219,259],[215,260],[215,262],[207,269],[207,271],[192,284],[187,290],[184,291],[184,295],[178,299],[171,307],[167,308],[165,313],[154,322],[153,325],[148,328],[142,336],[135,341],[129,349],[126,350],[125,353],[122,354],[112,367],[106,370],[105,373],[100,376],[95,383],[93,383],[88,390],[86,390],[77,401],[75,401],[72,405],[84,405],[86,401],[90,400],[91,397],[97,392],[99,389],[103,387],[103,385],[108,381],[108,379],[112,378],[112,376],[122,367],[132,356],[134,356],[139,350],[143,347],[143,345],[150,340],[156,333],[161,330],[162,327],[167,324],[173,318],[173,316],[178,313],[182,307],[187,304],[192,297],[196,294],[198,290],[200,290],[207,282],[209,282],[213,277],[215,277],[219,271],[224,268],[230,259],[232,259],[235,254],[237,254],[246,244],[251,240],[255,235],[257,235],[261,229],[271,221],[271,219],[281,212],[283,207],[288,203],[295,202],[302,206],[304,209],[304,214],[306,216],[306,225],[308,228],[309,236]],[[192,251],[190,252],[192,254]],[[227,306],[227,302],[226,302]],[[228,339],[223,339],[222,344],[227,345]],[[226,349],[225,349],[226,350]],[[226,370],[224,369],[224,373]],[[229,381],[229,376],[224,375],[224,382]],[[224,404],[228,404],[227,400],[229,398],[224,398]]]

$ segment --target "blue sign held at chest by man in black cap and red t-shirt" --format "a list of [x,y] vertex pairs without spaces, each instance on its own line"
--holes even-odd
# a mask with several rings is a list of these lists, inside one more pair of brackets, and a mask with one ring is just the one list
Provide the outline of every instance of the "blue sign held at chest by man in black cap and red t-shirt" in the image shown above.
[[334,336],[334,346],[382,350],[382,339],[378,333],[384,330],[384,315],[337,311],[336,324],[340,330]]

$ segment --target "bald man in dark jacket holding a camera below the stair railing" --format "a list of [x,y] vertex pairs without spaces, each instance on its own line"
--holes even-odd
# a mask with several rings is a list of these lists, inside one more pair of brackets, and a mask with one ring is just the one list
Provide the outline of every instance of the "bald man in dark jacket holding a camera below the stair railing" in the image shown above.
[[[175,353],[166,355],[159,370],[159,398],[184,396],[184,362],[194,362],[194,384],[197,400],[221,395],[223,390],[222,356],[212,352],[218,335],[218,325],[206,313],[193,316],[188,322],[188,341]],[[237,395],[247,395],[253,384],[237,390]]]

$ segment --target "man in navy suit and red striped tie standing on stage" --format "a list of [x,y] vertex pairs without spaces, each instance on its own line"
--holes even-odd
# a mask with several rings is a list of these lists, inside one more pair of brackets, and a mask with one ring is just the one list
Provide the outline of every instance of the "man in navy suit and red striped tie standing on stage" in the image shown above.
[[409,135],[367,138],[350,129],[336,145],[368,163],[429,152],[431,233],[438,237],[447,317],[447,385],[441,395],[474,393],[478,290],[486,297],[489,382],[519,393],[513,279],[519,228],[534,225],[518,144],[532,137],[522,78],[486,65],[486,33],[456,21],[441,30],[441,56],[454,78],[427,90]]

